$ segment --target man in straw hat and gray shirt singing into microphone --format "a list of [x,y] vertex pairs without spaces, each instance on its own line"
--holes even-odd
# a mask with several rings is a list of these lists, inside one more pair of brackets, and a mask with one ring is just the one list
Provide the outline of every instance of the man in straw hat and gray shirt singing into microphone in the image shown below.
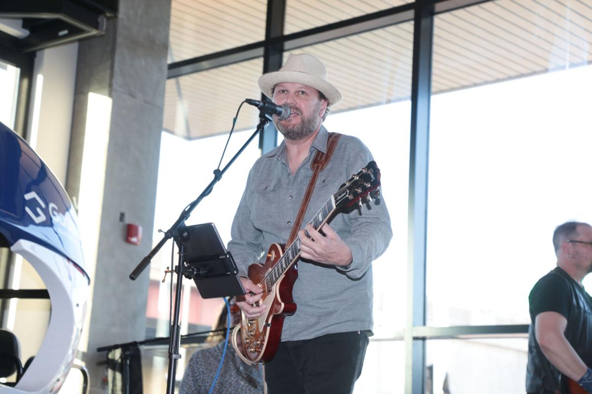
[[[313,174],[311,162],[326,152],[329,132],[322,123],[342,99],[327,81],[325,66],[310,54],[290,54],[279,71],[263,74],[262,92],[288,105],[289,118],[274,124],[281,145],[255,162],[232,226],[229,249],[237,261],[247,295],[237,302],[247,318],[262,314],[255,306],[262,288],[246,278],[247,267],[264,262],[269,246],[287,242]],[[359,139],[341,136],[332,158],[318,175],[304,221],[310,220],[340,185],[372,155]],[[372,261],[392,236],[382,197],[359,209],[339,210],[315,230],[298,232],[301,258],[292,295],[294,315],[285,318],[281,343],[265,363],[269,393],[351,393],[372,334]]]

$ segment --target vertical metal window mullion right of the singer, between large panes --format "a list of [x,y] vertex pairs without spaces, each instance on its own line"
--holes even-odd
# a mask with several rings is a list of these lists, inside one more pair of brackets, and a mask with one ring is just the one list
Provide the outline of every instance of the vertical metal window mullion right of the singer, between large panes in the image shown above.
[[425,340],[413,328],[426,324],[427,175],[434,6],[417,4],[413,31],[407,246],[405,392],[424,394]]

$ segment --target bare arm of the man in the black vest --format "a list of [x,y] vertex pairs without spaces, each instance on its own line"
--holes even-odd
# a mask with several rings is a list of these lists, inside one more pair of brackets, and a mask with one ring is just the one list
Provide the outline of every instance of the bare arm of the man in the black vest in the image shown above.
[[565,338],[567,318],[558,312],[541,312],[535,318],[535,335],[540,350],[562,374],[578,382],[588,367]]

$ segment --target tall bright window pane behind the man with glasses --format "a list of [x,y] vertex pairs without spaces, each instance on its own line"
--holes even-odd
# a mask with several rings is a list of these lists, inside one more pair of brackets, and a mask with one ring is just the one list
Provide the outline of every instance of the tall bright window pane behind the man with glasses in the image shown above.
[[436,17],[428,325],[529,323],[530,289],[555,266],[555,226],[592,220],[592,67],[581,66],[592,22],[585,8],[544,3]]

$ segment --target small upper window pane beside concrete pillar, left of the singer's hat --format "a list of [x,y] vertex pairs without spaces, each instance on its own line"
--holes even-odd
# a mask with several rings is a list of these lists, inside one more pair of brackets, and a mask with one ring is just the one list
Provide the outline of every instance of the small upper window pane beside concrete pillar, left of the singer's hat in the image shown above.
[[172,0],[169,63],[265,38],[267,1]]

